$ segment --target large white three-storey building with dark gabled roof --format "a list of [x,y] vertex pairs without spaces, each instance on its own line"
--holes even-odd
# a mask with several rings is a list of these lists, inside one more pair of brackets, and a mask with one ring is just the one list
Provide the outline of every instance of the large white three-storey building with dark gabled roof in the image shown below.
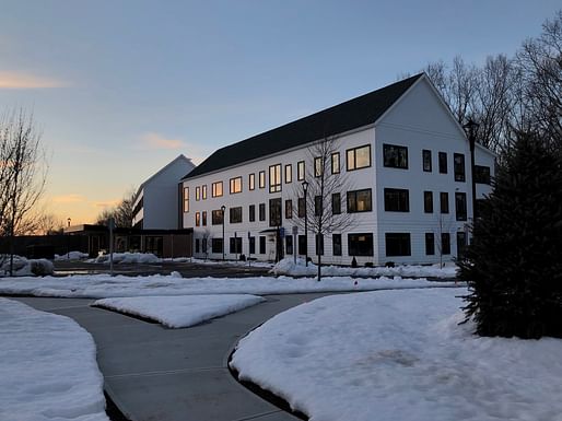
[[[195,256],[222,258],[224,237],[226,259],[242,253],[272,260],[279,224],[285,255],[307,250],[316,260],[314,232],[305,249],[300,227],[293,247],[297,214],[290,209],[304,196],[309,147],[326,137],[338,138],[335,172],[349,187],[336,199],[354,224],[324,237],[323,261],[426,264],[457,255],[472,218],[469,142],[419,74],[215,151],[184,177],[184,226],[194,227]],[[475,155],[483,197],[495,156],[480,145]]]

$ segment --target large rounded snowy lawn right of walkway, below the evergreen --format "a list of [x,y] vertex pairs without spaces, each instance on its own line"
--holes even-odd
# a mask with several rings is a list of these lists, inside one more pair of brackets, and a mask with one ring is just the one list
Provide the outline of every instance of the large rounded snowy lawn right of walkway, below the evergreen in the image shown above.
[[562,340],[479,338],[466,289],[333,295],[243,339],[232,365],[311,421],[562,420]]

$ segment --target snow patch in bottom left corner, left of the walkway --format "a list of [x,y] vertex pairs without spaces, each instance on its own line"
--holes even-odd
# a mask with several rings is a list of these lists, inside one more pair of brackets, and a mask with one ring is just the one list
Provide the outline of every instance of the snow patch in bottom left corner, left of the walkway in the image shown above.
[[0,420],[108,421],[90,334],[0,299]]

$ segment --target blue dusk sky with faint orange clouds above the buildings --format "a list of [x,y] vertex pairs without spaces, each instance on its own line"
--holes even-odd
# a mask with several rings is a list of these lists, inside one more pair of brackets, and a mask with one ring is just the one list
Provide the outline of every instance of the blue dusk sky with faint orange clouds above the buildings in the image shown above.
[[0,112],[33,113],[72,224],[214,150],[455,56],[536,37],[560,0],[2,0]]

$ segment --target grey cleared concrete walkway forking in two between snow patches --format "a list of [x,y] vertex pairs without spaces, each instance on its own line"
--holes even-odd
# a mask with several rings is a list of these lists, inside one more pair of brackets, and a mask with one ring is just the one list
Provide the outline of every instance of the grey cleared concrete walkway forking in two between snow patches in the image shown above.
[[324,295],[271,295],[266,303],[186,329],[92,308],[92,300],[15,300],[71,317],[92,334],[106,391],[131,421],[294,421],[232,378],[227,359],[256,326]]

